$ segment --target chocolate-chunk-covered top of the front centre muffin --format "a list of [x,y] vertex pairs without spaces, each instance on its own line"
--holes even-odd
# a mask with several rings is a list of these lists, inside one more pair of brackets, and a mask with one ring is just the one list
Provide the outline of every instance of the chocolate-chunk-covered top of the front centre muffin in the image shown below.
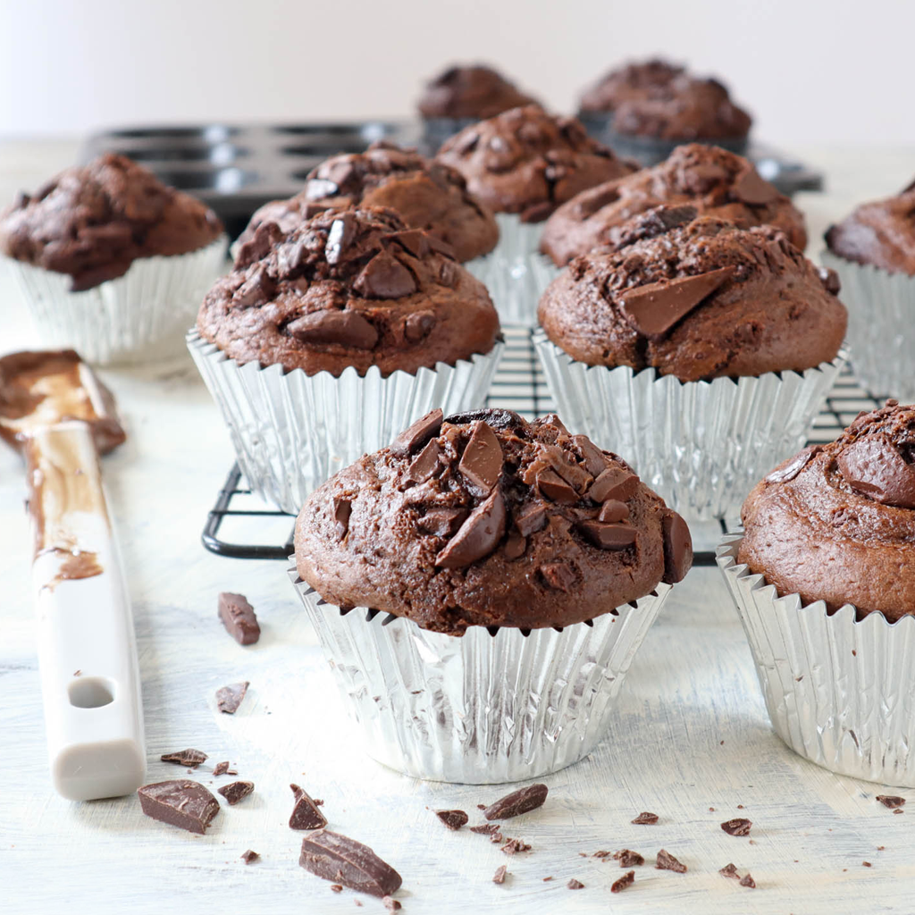
[[680,581],[689,529],[554,415],[436,410],[309,497],[298,574],[341,608],[461,635],[566,626]]

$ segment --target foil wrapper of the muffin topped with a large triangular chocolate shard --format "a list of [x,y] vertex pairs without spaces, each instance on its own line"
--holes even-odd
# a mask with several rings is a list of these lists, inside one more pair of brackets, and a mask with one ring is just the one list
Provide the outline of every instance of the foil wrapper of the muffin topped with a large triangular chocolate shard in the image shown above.
[[802,373],[681,382],[654,369],[573,360],[534,337],[557,412],[635,468],[687,521],[731,516],[760,477],[800,451],[845,362]]

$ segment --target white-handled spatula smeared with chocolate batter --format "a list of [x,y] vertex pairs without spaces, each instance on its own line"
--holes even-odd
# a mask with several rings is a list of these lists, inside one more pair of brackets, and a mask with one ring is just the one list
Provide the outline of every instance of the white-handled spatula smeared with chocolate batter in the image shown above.
[[0,359],[0,436],[26,459],[51,779],[72,801],[135,791],[143,706],[99,455],[124,442],[111,393],[72,350]]

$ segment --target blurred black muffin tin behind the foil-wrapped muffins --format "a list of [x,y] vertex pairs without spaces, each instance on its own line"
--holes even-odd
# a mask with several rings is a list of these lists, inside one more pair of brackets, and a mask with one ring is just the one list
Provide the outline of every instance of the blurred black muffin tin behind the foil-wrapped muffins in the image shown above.
[[[431,155],[442,137],[425,132],[418,121],[393,120],[137,126],[92,135],[81,158],[113,152],[135,159],[166,184],[204,200],[235,238],[267,200],[298,193],[323,159],[359,153],[382,139]],[[749,157],[782,193],[823,188],[820,172],[768,146],[751,144]]]

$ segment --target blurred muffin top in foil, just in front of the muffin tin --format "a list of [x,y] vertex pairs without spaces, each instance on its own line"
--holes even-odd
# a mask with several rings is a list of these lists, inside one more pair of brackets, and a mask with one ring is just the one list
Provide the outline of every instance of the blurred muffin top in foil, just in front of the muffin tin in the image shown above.
[[470,193],[492,210],[518,213],[524,222],[545,220],[585,188],[636,168],[591,139],[575,118],[537,105],[465,127],[437,158],[457,168]]

